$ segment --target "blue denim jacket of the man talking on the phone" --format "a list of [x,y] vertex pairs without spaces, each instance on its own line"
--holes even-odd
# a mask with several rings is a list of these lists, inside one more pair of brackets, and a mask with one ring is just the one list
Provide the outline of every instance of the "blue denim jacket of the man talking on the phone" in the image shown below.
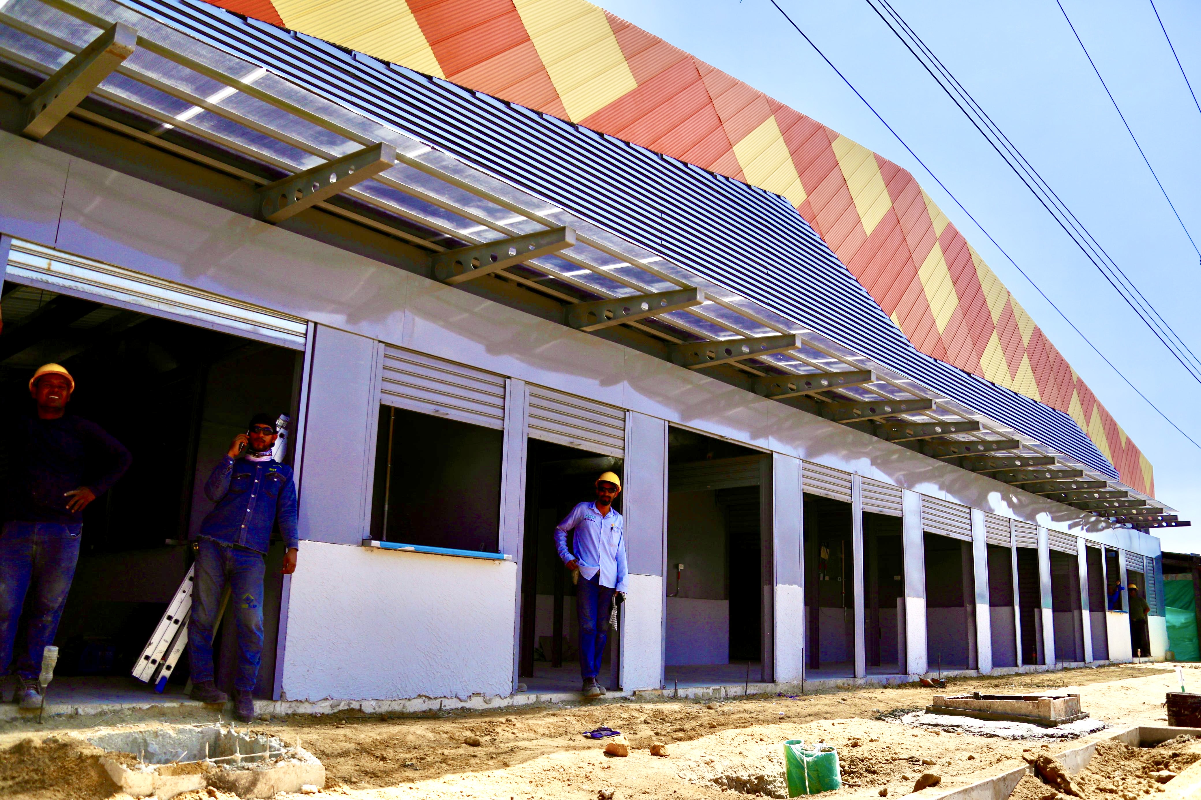
[[234,461],[226,456],[204,485],[216,503],[201,523],[199,536],[267,553],[276,521],[283,543],[299,546],[297,487],[292,468],[277,461]]

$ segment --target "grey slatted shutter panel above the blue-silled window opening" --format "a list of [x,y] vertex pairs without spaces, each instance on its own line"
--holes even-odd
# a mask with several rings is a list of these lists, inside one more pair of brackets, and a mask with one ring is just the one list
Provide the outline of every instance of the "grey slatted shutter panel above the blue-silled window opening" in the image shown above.
[[401,348],[383,354],[380,402],[485,428],[504,428],[504,378]]

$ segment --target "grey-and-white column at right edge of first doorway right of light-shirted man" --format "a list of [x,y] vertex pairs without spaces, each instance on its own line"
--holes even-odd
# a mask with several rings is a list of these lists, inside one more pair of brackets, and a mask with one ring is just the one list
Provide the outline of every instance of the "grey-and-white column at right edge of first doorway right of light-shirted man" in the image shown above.
[[801,679],[805,668],[805,512],[801,461],[772,453],[772,531],[775,540],[775,666],[776,681]]

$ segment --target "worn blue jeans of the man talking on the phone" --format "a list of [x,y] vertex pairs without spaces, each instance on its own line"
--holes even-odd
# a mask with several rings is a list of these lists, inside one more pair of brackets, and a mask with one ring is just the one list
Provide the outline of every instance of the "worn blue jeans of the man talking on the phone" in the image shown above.
[[213,628],[217,624],[221,593],[229,587],[229,604],[238,627],[238,675],[234,687],[253,691],[263,660],[263,575],[261,553],[199,540],[192,615],[187,620],[187,658],[192,681],[213,680]]

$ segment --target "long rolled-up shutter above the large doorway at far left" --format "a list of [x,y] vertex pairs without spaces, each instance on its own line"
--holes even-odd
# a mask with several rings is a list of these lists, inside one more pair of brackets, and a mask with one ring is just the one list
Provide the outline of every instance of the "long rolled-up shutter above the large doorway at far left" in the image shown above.
[[14,239],[5,279],[303,350],[299,317]]

